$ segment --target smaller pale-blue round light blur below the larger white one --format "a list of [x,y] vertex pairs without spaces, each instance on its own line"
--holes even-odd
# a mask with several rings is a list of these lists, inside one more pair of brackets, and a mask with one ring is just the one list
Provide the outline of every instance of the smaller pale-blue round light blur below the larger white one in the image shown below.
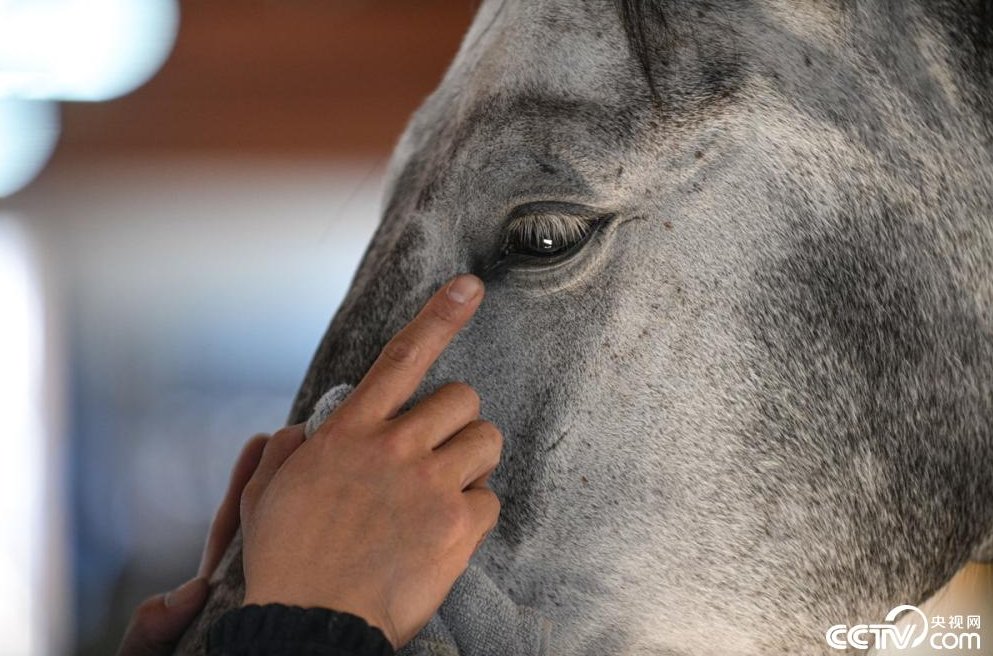
[[0,198],[34,179],[51,157],[58,137],[55,103],[0,97]]

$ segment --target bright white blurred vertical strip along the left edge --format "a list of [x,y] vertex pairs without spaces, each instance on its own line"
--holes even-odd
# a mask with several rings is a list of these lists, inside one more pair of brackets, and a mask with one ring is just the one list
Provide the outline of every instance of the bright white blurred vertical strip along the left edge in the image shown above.
[[[41,420],[41,300],[23,235],[0,217],[0,654],[44,650],[36,590],[47,554],[45,445]],[[39,612],[40,611],[40,612]]]

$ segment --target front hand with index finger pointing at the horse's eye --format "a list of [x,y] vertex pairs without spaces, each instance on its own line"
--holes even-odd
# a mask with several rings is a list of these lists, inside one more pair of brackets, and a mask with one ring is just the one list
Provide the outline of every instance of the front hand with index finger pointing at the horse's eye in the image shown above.
[[455,278],[309,440],[294,426],[266,445],[242,495],[246,605],[349,612],[397,648],[438,609],[496,524],[502,436],[462,383],[397,412],[482,297]]

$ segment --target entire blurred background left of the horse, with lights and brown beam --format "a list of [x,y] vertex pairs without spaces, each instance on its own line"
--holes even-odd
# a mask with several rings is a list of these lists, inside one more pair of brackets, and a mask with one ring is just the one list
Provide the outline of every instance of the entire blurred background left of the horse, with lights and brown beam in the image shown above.
[[0,0],[0,654],[113,653],[195,571],[473,8]]

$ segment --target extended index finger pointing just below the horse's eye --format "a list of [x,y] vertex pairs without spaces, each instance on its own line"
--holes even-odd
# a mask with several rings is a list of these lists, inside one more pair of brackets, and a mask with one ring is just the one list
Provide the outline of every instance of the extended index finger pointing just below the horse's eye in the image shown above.
[[377,419],[395,415],[482,300],[483,281],[471,274],[457,276],[435,292],[386,343],[347,405]]

